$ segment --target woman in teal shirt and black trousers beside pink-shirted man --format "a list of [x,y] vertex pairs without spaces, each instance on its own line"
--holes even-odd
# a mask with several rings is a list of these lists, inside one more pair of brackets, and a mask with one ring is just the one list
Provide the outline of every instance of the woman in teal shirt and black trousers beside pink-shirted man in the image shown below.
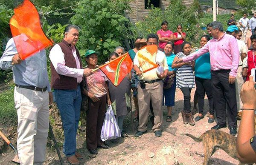
[[[200,46],[201,48],[210,40],[210,37],[204,35],[201,37]],[[199,114],[195,117],[195,121],[199,121],[204,118],[204,95],[206,93],[209,100],[209,123],[214,122],[214,108],[213,108],[213,97],[212,97],[212,83],[211,83],[211,65],[210,65],[210,54],[209,52],[202,55],[195,60],[195,85],[196,94],[198,95],[198,109]]]

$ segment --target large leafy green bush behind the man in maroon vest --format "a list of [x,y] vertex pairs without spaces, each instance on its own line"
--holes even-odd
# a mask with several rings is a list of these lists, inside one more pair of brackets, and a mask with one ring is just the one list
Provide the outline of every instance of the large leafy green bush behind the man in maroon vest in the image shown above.
[[81,27],[78,48],[98,51],[99,63],[105,62],[117,46],[130,49],[133,28],[125,17],[129,10],[128,0],[81,1],[71,18],[73,24]]

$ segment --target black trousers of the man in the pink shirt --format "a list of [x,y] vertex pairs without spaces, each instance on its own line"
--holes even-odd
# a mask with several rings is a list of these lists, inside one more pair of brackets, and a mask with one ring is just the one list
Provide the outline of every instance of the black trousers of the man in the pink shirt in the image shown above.
[[[230,70],[211,71],[213,104],[218,125],[226,125],[226,117],[230,128],[237,126],[236,85],[228,82]],[[227,112],[226,112],[227,102]]]

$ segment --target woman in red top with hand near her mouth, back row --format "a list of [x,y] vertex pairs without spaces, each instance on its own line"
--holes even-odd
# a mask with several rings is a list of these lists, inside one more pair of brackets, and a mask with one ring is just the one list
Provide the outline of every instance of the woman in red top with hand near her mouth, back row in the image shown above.
[[186,38],[186,33],[182,31],[182,25],[177,26],[177,32],[173,34],[174,37],[174,54],[182,52],[181,44]]

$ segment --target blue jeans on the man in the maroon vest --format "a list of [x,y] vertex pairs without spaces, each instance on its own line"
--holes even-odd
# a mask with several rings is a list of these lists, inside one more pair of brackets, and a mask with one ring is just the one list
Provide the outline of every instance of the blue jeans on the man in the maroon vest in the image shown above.
[[66,156],[73,156],[76,152],[76,132],[82,101],[81,89],[80,86],[75,90],[54,89],[54,95],[64,129],[63,153]]

